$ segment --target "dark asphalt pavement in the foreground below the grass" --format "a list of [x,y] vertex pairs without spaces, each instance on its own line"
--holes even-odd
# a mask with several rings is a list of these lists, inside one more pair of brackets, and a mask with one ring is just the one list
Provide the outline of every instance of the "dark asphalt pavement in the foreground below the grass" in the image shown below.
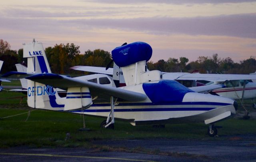
[[120,151],[22,146],[0,149],[0,161],[256,161],[255,134],[222,138],[92,141],[96,146],[125,148]]

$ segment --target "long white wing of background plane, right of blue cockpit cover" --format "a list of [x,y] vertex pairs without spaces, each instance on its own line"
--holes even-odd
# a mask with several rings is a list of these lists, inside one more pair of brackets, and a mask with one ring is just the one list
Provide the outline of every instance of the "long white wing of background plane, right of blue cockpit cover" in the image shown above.
[[250,80],[256,79],[256,75],[247,74],[200,74],[200,73],[181,73],[173,77],[172,73],[164,73],[164,79],[176,80],[204,80],[204,81],[226,81],[226,80]]

